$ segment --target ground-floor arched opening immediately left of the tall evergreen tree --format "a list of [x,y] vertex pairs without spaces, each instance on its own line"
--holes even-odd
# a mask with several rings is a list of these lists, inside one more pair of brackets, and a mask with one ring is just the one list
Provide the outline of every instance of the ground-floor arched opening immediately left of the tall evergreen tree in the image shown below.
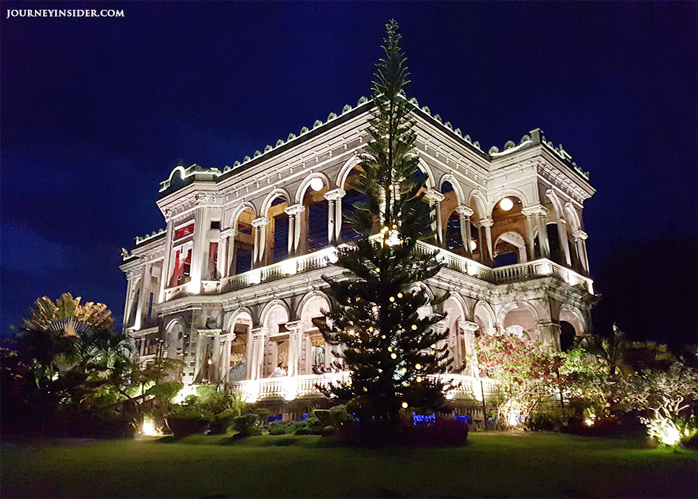
[[325,338],[322,338],[320,330],[313,319],[325,317],[322,310],[328,310],[329,303],[324,296],[313,296],[301,311],[301,324],[303,331],[303,350],[301,354],[302,374],[322,374],[323,369],[332,369],[334,364],[334,356],[332,349],[325,343]]

